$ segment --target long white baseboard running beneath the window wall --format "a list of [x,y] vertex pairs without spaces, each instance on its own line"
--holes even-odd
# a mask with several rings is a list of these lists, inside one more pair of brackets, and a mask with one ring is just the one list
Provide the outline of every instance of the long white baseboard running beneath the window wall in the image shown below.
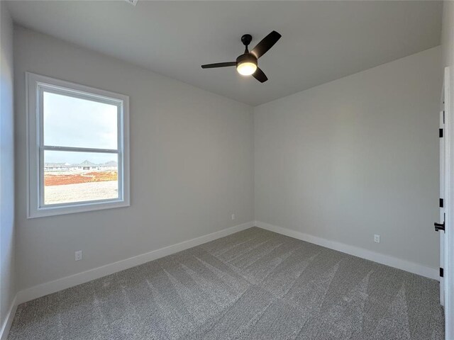
[[254,221],[243,223],[242,225],[236,225],[227,229],[220,230],[218,232],[213,232],[211,234],[206,234],[201,237],[196,237],[195,239],[189,239],[188,241],[173,244],[172,246],[165,246],[161,249],[156,249],[138,256],[133,256],[126,260],[110,263],[106,266],[93,268],[89,271],[83,271],[82,273],[66,276],[65,278],[59,278],[57,280],[42,283],[40,285],[35,285],[34,287],[26,288],[18,292],[17,304],[20,305],[23,302],[42,297],[44,295],[56,293],[66,288],[74,287],[74,285],[80,285],[81,283],[86,283],[91,280],[95,280],[96,278],[102,278],[103,276],[117,273],[118,271],[123,271],[125,269],[132,268],[134,266],[138,266],[155,259],[160,259],[161,257],[175,254],[178,251],[189,249],[193,246],[199,246],[200,244],[213,241],[214,239],[218,239],[220,237],[228,236],[235,232],[240,232],[250,227],[254,227]]

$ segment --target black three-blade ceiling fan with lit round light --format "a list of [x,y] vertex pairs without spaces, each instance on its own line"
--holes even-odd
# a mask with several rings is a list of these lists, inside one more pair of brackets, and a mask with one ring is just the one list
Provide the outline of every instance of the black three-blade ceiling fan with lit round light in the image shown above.
[[282,35],[277,33],[273,30],[269,35],[262,39],[252,51],[249,52],[248,45],[253,40],[252,35],[245,34],[241,37],[241,42],[245,45],[245,50],[243,55],[240,55],[236,58],[236,62],[218,62],[217,64],[206,64],[201,65],[202,69],[214,69],[216,67],[228,67],[228,66],[236,66],[236,70],[239,74],[243,76],[250,76],[252,75],[255,79],[260,81],[260,83],[264,83],[268,80],[267,76],[260,67],[257,66],[258,58],[265,55],[268,50],[270,50],[273,45],[281,38]]

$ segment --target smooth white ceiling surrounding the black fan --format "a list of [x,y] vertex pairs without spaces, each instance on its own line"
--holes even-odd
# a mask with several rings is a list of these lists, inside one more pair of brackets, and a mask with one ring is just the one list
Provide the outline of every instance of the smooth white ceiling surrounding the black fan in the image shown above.
[[[258,105],[440,44],[441,1],[11,1],[14,20],[77,45]],[[282,38],[259,60],[269,80],[234,67],[240,37]]]

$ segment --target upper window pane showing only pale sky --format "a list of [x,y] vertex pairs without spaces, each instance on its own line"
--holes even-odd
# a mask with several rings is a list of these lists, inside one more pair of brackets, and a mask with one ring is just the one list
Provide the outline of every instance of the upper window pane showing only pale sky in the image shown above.
[[44,144],[117,149],[115,105],[43,92]]

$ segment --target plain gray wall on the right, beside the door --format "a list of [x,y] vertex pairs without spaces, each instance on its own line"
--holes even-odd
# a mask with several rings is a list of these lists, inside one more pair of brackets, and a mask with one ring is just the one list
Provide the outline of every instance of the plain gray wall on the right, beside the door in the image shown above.
[[255,220],[438,267],[440,66],[435,47],[256,107]]

